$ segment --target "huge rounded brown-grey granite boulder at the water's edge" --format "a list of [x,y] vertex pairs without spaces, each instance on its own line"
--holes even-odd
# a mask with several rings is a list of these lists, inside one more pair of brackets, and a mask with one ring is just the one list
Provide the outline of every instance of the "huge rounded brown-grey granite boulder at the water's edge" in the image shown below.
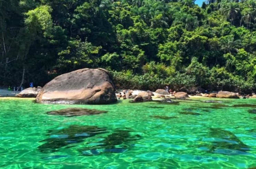
[[110,73],[105,69],[80,69],[55,77],[38,94],[39,103],[110,104],[117,101]]

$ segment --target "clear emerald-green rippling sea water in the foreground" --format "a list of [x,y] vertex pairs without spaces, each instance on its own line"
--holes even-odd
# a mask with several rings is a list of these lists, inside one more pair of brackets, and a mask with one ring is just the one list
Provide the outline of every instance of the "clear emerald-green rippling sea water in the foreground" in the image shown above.
[[[222,101],[230,101],[220,103],[229,107],[200,101],[167,105],[128,100],[113,105],[42,105],[32,99],[0,98],[0,168],[256,167],[256,114],[247,111],[256,108],[230,107],[255,104],[256,99]],[[46,113],[69,107],[108,112],[79,117]]]

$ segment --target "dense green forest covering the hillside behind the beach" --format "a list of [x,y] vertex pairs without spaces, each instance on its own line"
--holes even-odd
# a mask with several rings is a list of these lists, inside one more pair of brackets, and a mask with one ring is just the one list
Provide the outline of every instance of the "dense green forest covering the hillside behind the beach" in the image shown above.
[[2,0],[0,85],[105,68],[119,88],[256,89],[256,1]]

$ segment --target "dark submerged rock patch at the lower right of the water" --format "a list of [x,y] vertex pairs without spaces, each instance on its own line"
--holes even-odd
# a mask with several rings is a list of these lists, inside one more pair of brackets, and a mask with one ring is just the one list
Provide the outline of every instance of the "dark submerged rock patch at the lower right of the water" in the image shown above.
[[214,138],[209,151],[216,154],[239,155],[247,154],[250,149],[240,141],[235,134],[223,129],[210,129],[210,136]]

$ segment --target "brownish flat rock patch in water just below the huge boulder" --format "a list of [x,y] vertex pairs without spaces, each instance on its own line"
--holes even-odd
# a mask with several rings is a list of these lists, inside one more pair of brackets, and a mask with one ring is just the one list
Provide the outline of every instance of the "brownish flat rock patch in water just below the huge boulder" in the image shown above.
[[88,116],[94,114],[106,113],[107,111],[95,110],[95,109],[85,109],[85,108],[67,108],[55,111],[49,111],[47,114],[74,117],[74,116]]

